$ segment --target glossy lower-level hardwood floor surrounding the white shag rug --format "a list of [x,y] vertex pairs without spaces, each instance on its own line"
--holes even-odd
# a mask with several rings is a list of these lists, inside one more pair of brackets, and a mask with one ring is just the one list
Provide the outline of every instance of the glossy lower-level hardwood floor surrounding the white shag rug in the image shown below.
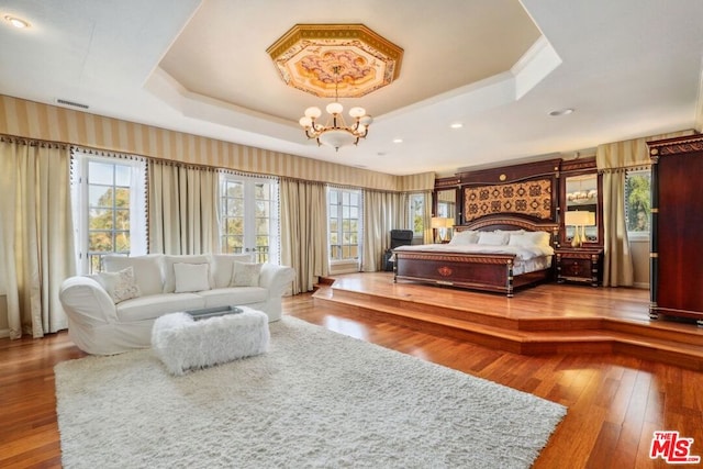
[[[572,290],[555,288],[549,308],[579,314],[569,300]],[[692,455],[703,456],[700,371],[613,353],[518,355],[359,314],[312,294],[284,298],[283,311],[568,406],[536,468],[672,467],[649,458],[655,431],[693,438]],[[66,333],[0,339],[0,467],[60,467],[53,367],[81,356]]]

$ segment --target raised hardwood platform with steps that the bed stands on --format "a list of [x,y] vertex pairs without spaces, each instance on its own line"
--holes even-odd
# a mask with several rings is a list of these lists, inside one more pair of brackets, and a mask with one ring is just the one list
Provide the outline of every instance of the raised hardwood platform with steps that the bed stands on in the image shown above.
[[[386,283],[389,278],[386,276]],[[352,315],[364,314],[515,354],[624,353],[703,370],[703,330],[691,324],[650,322],[646,301],[643,303],[638,292],[633,301],[627,298],[629,292],[616,299],[605,294],[612,289],[579,287],[572,297],[580,302],[580,312],[548,314],[545,301],[554,293],[545,289],[560,289],[561,294],[571,290],[544,286],[533,294],[525,291],[505,299],[428,286],[362,283],[337,281],[317,290],[314,301],[336,305],[335,311],[342,308]],[[562,298],[557,308],[568,310],[570,304]],[[617,315],[607,312],[609,306],[616,308]]]

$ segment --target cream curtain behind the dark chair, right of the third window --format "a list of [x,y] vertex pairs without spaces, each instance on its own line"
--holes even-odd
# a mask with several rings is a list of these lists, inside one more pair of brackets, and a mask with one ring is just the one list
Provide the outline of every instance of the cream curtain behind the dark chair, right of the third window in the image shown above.
[[400,193],[368,189],[364,191],[361,271],[376,272],[383,269],[383,253],[390,247],[391,230],[404,230],[406,226],[403,223]]

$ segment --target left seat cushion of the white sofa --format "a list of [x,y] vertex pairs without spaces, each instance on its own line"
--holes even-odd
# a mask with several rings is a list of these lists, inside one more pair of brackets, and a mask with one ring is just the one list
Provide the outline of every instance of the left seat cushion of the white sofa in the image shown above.
[[167,313],[205,308],[205,300],[196,293],[160,293],[133,298],[116,305],[118,320],[129,323],[154,320]]

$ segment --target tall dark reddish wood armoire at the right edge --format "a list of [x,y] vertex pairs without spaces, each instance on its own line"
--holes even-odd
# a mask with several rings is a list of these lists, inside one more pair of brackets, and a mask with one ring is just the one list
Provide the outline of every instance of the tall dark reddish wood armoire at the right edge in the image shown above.
[[651,157],[649,316],[703,326],[703,136],[648,143]]

